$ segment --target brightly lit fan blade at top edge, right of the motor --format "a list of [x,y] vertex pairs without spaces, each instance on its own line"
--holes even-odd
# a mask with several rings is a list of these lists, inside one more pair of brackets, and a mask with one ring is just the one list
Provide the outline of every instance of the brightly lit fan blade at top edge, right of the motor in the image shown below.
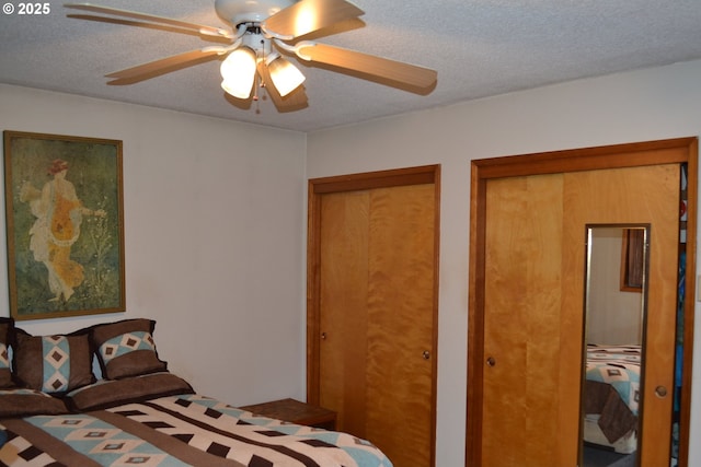
[[261,25],[268,34],[290,40],[361,14],[365,14],[363,10],[345,0],[301,0]]

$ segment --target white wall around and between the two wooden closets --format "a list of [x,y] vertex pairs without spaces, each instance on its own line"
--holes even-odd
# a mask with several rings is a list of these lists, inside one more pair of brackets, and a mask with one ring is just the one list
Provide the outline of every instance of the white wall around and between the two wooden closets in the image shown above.
[[[700,130],[701,61],[694,61],[309,135],[311,178],[443,165],[437,466],[464,465],[470,161],[693,137]],[[701,339],[701,319],[696,324]],[[691,440],[701,436],[700,349],[694,350]],[[691,444],[689,465],[701,465],[701,446]]]

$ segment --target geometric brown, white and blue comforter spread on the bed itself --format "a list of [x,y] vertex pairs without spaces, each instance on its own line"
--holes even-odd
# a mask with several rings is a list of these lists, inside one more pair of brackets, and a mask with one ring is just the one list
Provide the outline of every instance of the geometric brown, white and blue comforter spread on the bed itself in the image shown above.
[[184,394],[105,410],[3,419],[0,465],[391,467],[367,441]]

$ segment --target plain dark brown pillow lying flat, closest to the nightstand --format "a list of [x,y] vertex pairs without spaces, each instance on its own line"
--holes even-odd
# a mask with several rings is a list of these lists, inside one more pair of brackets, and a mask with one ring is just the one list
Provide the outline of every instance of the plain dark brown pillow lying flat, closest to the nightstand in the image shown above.
[[72,410],[88,411],[176,394],[194,394],[194,390],[185,380],[165,372],[123,380],[100,380],[68,393],[65,400]]

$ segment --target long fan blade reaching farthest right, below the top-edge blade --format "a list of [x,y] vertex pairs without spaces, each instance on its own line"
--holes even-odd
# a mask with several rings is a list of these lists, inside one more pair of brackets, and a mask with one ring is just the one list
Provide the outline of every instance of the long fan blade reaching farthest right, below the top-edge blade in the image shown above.
[[429,68],[324,44],[299,44],[297,55],[303,60],[344,68],[418,90],[433,86],[438,79],[438,73]]

